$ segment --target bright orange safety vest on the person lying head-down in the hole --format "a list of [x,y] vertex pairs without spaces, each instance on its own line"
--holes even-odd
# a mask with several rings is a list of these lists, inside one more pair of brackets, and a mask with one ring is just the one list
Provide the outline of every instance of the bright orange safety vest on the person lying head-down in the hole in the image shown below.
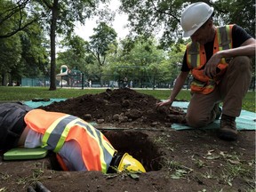
[[116,150],[91,124],[76,116],[42,109],[29,111],[24,120],[32,130],[43,134],[42,148],[58,153],[64,142],[76,140],[88,171],[108,171]]

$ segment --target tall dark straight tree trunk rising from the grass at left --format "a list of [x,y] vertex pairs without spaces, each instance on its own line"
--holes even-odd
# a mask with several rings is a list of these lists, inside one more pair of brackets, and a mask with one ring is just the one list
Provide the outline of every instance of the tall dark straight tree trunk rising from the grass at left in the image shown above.
[[56,39],[56,23],[58,19],[58,3],[59,0],[54,0],[53,6],[52,6],[52,21],[51,21],[51,32],[50,32],[50,39],[51,39],[51,84],[50,84],[50,90],[54,91],[56,90],[56,74],[55,74],[55,68],[56,68],[56,48],[55,48],[55,39]]

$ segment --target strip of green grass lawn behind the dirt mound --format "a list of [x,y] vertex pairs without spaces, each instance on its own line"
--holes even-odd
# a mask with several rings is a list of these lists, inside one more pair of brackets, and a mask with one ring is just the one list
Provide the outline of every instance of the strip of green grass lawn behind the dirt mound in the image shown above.
[[[0,100],[32,100],[35,98],[75,98],[84,94],[97,94],[106,89],[57,89],[49,91],[48,87],[8,87],[0,86]],[[170,90],[136,90],[164,100],[170,96]],[[182,90],[177,100],[190,100],[190,92]],[[243,109],[255,112],[255,92],[247,92],[243,101]]]

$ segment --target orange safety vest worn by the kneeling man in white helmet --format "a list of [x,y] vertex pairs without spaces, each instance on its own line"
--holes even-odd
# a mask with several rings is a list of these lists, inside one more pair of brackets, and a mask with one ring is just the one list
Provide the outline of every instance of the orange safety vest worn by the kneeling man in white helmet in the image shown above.
[[[232,41],[233,25],[227,25],[216,28],[213,54],[221,50],[231,49],[233,47]],[[204,45],[198,43],[190,43],[187,45],[187,62],[188,68],[191,68],[193,81],[190,84],[191,92],[200,92],[208,94],[214,90],[216,84],[220,83],[220,77],[226,72],[228,68],[227,58],[222,58],[217,68],[218,73],[213,78],[204,75],[204,66],[206,64],[206,53]]]

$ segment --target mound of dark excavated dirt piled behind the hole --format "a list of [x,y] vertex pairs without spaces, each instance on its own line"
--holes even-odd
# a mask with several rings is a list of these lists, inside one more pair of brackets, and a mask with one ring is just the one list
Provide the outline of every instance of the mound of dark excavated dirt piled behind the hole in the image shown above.
[[43,109],[117,127],[171,127],[172,123],[185,123],[185,113],[181,108],[156,109],[156,102],[159,101],[128,88],[113,91],[107,89],[99,94],[85,94],[55,102]]

